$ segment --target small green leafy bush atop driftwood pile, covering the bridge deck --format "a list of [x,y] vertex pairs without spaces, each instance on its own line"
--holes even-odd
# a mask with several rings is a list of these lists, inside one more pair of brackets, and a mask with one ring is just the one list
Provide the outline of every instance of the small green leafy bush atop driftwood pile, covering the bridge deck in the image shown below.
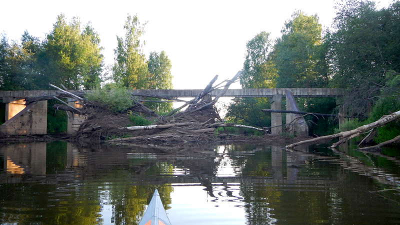
[[131,94],[126,89],[118,87],[112,89],[97,88],[85,94],[87,100],[98,102],[114,112],[122,112],[131,107],[133,101],[130,97]]

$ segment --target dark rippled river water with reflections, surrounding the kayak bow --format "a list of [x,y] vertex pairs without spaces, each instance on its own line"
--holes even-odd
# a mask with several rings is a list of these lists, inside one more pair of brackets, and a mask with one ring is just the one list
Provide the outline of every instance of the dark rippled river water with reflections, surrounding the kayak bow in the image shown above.
[[0,224],[137,224],[154,188],[174,225],[400,223],[400,149],[282,145],[5,145]]

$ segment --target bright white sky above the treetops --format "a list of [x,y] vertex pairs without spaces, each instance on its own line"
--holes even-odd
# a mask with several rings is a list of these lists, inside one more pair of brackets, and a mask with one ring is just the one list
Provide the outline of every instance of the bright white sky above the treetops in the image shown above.
[[[322,27],[335,16],[334,0],[4,0],[0,32],[17,40],[27,30],[43,39],[57,15],[91,22],[104,48],[104,62],[113,63],[116,36],[124,37],[127,14],[144,26],[144,53],[165,51],[171,60],[174,89],[202,89],[218,74],[218,83],[243,66],[246,42],[261,31],[275,39],[296,10],[317,14]],[[391,0],[376,0],[387,7]],[[231,88],[240,88],[238,83]]]

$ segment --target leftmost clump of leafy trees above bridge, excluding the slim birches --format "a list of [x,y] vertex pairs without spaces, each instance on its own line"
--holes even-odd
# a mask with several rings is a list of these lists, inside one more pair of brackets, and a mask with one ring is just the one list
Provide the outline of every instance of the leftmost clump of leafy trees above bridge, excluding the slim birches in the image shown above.
[[25,31],[21,43],[0,40],[0,89],[48,89],[48,83],[68,88],[93,88],[100,84],[102,62],[98,34],[79,18],[68,24],[57,16],[53,29],[40,41]]

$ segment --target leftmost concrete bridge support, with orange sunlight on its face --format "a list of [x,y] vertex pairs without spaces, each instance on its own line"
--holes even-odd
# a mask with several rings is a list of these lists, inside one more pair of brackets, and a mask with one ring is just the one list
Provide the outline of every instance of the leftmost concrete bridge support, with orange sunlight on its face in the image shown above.
[[46,134],[47,100],[25,105],[23,99],[4,97],[5,122],[0,132],[5,135]]

